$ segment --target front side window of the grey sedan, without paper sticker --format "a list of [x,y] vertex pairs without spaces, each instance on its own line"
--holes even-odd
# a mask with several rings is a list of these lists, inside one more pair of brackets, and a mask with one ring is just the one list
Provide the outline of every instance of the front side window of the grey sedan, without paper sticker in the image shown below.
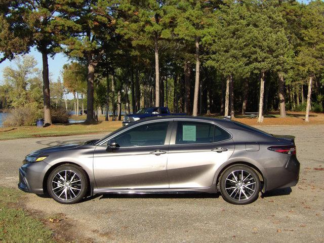
[[114,137],[119,147],[164,145],[169,121],[143,124]]

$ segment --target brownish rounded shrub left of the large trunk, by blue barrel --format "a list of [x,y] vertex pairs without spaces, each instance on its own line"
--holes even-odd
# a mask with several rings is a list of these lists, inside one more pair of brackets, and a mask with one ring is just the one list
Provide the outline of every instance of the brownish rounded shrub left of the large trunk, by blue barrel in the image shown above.
[[37,118],[43,117],[43,110],[37,108],[33,104],[26,107],[15,108],[7,115],[3,126],[4,127],[21,127],[32,126]]

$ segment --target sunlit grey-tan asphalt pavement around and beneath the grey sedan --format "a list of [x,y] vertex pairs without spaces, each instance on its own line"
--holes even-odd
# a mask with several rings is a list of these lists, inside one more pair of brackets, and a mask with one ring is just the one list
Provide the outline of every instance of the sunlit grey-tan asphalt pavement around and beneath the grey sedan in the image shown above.
[[[219,195],[104,195],[76,205],[26,194],[29,210],[63,215],[65,234],[94,242],[324,242],[324,126],[262,127],[296,136],[300,181],[234,206]],[[0,185],[16,187],[32,150],[103,135],[0,141]]]

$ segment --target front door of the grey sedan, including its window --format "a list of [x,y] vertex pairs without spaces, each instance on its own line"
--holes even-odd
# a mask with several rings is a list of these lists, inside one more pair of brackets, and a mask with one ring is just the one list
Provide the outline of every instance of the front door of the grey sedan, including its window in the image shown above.
[[170,126],[172,121],[140,124],[109,138],[115,140],[115,149],[98,145],[93,160],[97,188],[169,188]]

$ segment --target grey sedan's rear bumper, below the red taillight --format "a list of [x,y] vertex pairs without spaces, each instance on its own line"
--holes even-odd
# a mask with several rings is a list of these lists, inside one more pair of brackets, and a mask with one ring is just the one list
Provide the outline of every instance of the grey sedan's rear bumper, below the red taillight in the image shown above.
[[299,170],[300,164],[295,155],[289,158],[284,167],[265,168],[264,172],[267,175],[265,191],[296,186]]

